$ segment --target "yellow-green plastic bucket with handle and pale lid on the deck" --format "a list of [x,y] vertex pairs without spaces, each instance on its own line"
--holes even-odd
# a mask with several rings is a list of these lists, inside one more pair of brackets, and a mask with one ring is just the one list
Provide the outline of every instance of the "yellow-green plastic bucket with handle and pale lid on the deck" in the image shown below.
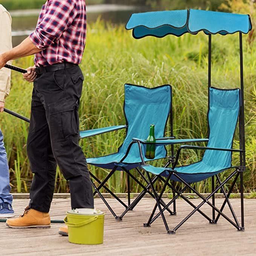
[[105,213],[100,210],[84,215],[83,211],[67,212],[64,219],[68,226],[69,242],[73,244],[103,244]]

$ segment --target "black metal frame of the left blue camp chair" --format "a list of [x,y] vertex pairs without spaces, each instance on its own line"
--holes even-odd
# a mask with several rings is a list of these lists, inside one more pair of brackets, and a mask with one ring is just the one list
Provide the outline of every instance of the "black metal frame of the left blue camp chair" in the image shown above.
[[[133,86],[138,86],[135,84],[128,84],[128,85],[133,85]],[[163,85],[166,86],[166,85]],[[170,86],[170,85],[169,85]],[[141,86],[138,86],[141,87]],[[158,86],[161,87],[161,86]],[[158,88],[155,87],[155,88]],[[155,89],[152,88],[152,89]],[[170,137],[164,137],[164,138],[159,138],[158,140],[165,140],[165,139],[175,139],[175,137],[173,136],[173,112],[172,112],[172,87],[171,87],[171,105],[170,105],[170,113],[169,113],[169,118],[170,118]],[[124,112],[125,115],[125,112]],[[125,116],[126,118],[126,116]],[[167,120],[168,121],[168,120]],[[126,118],[126,126],[128,129],[128,122],[127,122],[127,118]],[[167,126],[167,123],[166,123]],[[165,127],[166,129],[166,127]],[[136,143],[135,141],[132,141],[127,149],[126,155],[121,159],[120,162],[123,162],[124,159],[126,159],[126,157],[129,154],[129,151],[132,147],[132,145]],[[140,149],[141,150],[141,149]],[[174,146],[172,145],[172,156],[169,157],[167,163],[166,163],[166,167],[170,165],[170,163],[174,162],[175,157],[174,155]],[[142,151],[141,151],[142,153]],[[137,170],[137,172],[139,173],[139,175],[141,176],[141,178],[147,182],[147,185],[143,185],[134,175],[132,175],[132,173],[130,173],[129,170],[127,170],[125,167],[121,167],[122,171],[124,171],[127,174],[127,189],[128,189],[128,196],[127,196],[127,205],[120,199],[118,198],[117,195],[115,195],[113,192],[111,192],[111,190],[109,188],[107,188],[106,183],[107,181],[111,178],[111,176],[117,171],[118,166],[115,166],[110,173],[106,176],[106,178],[101,182],[95,175],[93,175],[91,172],[90,176],[92,179],[94,179],[96,182],[98,182],[100,185],[97,187],[93,180],[91,179],[92,182],[92,186],[94,187],[95,191],[94,191],[94,196],[96,194],[98,194],[100,196],[100,198],[103,200],[104,204],[106,204],[107,208],[110,210],[110,212],[112,213],[112,215],[114,216],[114,218],[117,221],[122,221],[124,215],[126,215],[127,212],[132,211],[136,205],[138,204],[138,202],[144,197],[144,195],[146,195],[146,193],[149,193],[150,196],[152,196],[153,198],[155,198],[155,193],[150,192],[149,188],[150,188],[150,182],[145,178],[145,176],[143,175],[143,173],[138,169],[138,167],[136,167],[135,169]],[[139,184],[143,191],[133,200],[133,202],[131,203],[131,199],[130,199],[130,178],[132,178],[137,184]],[[152,184],[154,184],[156,181],[158,180],[158,178],[153,179]],[[107,192],[110,193],[111,196],[113,196],[113,198],[115,198],[118,202],[120,202],[121,205],[123,205],[126,209],[124,210],[124,212],[120,215],[117,216],[117,214],[114,212],[114,210],[112,209],[112,207],[109,205],[109,203],[106,201],[106,199],[104,198],[104,196],[102,195],[102,193],[100,192],[100,189],[104,187],[104,189],[107,190]],[[173,191],[173,195],[175,195],[175,192]],[[162,205],[163,207],[166,207],[166,204],[164,203],[164,201],[162,199],[159,199],[159,204]],[[174,202],[173,204],[173,211],[169,209],[169,207],[166,207],[166,210],[170,213],[170,215],[176,215],[176,204]]]

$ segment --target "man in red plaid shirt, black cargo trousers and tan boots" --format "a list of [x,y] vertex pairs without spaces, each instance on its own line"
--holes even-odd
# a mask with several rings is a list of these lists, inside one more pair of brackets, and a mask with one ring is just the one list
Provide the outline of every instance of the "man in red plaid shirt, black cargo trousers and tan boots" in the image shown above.
[[50,227],[57,164],[69,180],[71,207],[94,208],[87,163],[78,144],[84,81],[78,65],[85,40],[85,0],[48,0],[35,31],[0,55],[1,69],[9,60],[35,54],[35,66],[24,74],[34,82],[27,151],[35,175],[29,206],[21,218],[7,222],[9,227]]

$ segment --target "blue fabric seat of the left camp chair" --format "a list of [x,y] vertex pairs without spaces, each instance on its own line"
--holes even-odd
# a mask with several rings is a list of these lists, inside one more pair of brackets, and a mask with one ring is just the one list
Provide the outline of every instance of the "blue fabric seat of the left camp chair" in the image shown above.
[[[121,167],[126,168],[127,170],[132,170],[139,166],[141,163],[141,158],[137,154],[128,154],[128,156],[124,159],[123,162],[121,160],[124,158],[125,154],[122,152],[117,152],[111,155],[101,156],[97,158],[88,158],[87,164],[91,164],[93,166],[101,167],[103,169],[112,170],[115,166],[119,166],[117,170],[121,171]],[[155,160],[160,158],[155,158]]]

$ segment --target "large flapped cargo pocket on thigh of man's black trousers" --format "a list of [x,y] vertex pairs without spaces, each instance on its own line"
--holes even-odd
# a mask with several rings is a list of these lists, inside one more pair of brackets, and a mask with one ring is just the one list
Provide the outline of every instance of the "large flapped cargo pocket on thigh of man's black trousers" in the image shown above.
[[49,105],[50,128],[54,136],[64,139],[79,133],[78,100]]

